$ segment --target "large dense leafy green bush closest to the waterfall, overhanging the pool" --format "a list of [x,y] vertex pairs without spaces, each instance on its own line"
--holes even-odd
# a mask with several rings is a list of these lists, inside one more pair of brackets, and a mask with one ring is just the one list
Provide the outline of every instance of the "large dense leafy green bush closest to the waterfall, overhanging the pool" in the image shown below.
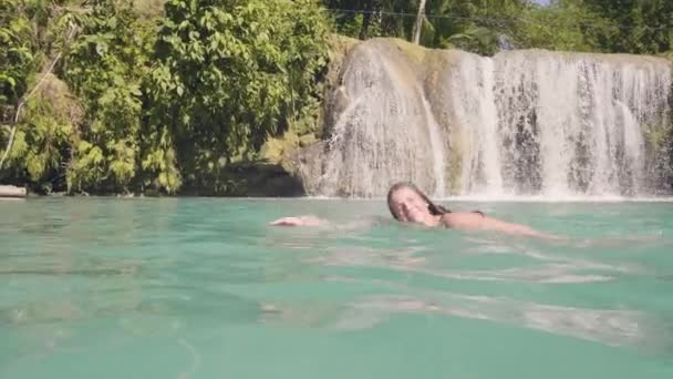
[[190,186],[287,130],[327,64],[327,20],[312,0],[168,0],[158,35],[151,124],[173,136]]

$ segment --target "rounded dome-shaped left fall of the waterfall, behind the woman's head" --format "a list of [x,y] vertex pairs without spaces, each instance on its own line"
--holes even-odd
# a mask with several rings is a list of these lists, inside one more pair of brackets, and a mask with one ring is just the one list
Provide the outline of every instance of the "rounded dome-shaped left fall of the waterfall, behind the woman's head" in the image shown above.
[[320,194],[377,196],[395,178],[444,195],[443,136],[411,66],[367,49],[339,90],[349,99],[328,141]]

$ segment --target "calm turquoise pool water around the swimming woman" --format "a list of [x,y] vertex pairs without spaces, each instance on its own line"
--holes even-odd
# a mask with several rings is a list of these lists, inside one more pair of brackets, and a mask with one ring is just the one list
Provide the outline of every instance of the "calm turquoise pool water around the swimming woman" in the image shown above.
[[[673,203],[0,201],[0,378],[673,378]],[[282,228],[284,215],[329,218]]]

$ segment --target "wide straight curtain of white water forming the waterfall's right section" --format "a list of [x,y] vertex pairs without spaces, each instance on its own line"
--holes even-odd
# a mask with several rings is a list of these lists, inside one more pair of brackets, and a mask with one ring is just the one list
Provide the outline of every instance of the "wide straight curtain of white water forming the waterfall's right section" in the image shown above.
[[540,51],[494,60],[506,188],[547,196],[645,191],[643,125],[670,112],[669,62]]

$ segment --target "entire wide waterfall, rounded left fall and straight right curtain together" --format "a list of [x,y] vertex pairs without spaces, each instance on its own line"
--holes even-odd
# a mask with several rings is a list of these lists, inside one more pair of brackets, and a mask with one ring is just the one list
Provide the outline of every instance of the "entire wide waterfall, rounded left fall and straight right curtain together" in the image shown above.
[[661,154],[645,133],[671,126],[669,61],[547,51],[414,60],[400,50],[379,40],[351,57],[315,194],[382,196],[397,181],[435,196],[660,190],[651,176]]

